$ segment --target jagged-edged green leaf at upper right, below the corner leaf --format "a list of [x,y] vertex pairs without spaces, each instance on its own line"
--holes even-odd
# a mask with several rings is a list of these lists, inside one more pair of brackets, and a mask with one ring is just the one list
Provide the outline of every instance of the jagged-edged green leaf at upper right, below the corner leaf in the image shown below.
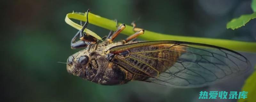
[[244,26],[247,22],[249,22],[251,19],[256,18],[256,12],[252,14],[247,14],[247,15],[242,15],[239,18],[234,18],[227,24],[227,29],[237,29],[240,28],[241,26]]

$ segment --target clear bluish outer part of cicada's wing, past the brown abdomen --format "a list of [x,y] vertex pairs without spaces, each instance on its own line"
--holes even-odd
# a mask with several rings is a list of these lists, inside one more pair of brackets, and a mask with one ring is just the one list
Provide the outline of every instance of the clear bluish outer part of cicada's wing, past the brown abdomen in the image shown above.
[[183,46],[185,51],[176,63],[167,67],[169,70],[162,72],[159,77],[147,81],[174,87],[200,87],[240,75],[250,66],[244,56],[228,49],[192,43],[179,46]]

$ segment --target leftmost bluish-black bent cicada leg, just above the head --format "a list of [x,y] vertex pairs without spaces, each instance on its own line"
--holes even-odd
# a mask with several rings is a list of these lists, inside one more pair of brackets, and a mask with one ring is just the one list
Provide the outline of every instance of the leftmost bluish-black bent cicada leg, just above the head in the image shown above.
[[72,49],[87,47],[88,45],[90,45],[89,42],[86,42],[86,41],[83,41],[83,40],[76,41],[76,38],[78,37],[79,34],[80,34],[80,31],[78,31],[76,33],[76,35],[71,40],[70,46],[71,46]]

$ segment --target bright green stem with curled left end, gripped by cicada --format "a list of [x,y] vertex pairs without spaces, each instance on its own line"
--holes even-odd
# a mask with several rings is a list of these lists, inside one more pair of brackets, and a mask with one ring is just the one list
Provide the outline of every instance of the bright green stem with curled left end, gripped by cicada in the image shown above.
[[[67,19],[73,18],[76,20],[86,20],[86,16],[84,13],[68,13],[65,21]],[[109,30],[116,30],[116,22],[113,20],[109,20],[107,18],[100,17],[98,15],[89,13],[89,22],[90,24],[100,26],[102,28],[106,28]],[[70,20],[70,19],[69,19]],[[74,24],[67,22],[69,25],[75,27],[79,30]],[[74,23],[74,22],[73,22]],[[79,25],[80,26],[80,25]],[[80,28],[81,29],[81,28]],[[126,28],[121,32],[125,35],[131,35],[134,32],[132,31],[132,26],[126,25]],[[169,34],[162,34],[151,32],[145,30],[143,35],[140,35],[139,38],[144,40],[177,40],[177,41],[187,41],[187,42],[195,42],[195,43],[203,43],[209,45],[215,45],[219,47],[225,47],[231,50],[243,51],[243,52],[256,52],[256,42],[246,42],[246,41],[236,41],[236,40],[224,40],[224,39],[212,39],[212,38],[200,38],[200,37],[188,37],[188,36],[176,36]]]

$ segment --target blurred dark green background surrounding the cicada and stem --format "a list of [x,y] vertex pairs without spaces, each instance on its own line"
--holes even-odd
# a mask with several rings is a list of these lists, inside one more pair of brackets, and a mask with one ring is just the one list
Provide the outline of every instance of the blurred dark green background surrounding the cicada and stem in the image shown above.
[[[10,102],[198,102],[200,91],[240,91],[239,76],[203,88],[174,89],[146,82],[103,86],[69,75],[66,62],[77,30],[67,13],[92,13],[146,30],[183,36],[255,41],[256,20],[237,30],[226,23],[250,14],[251,0],[3,0],[1,1],[1,101]],[[88,25],[101,37],[108,30]],[[117,40],[126,36],[120,34]],[[242,53],[254,65],[255,54]],[[253,59],[254,58],[254,59]]]

